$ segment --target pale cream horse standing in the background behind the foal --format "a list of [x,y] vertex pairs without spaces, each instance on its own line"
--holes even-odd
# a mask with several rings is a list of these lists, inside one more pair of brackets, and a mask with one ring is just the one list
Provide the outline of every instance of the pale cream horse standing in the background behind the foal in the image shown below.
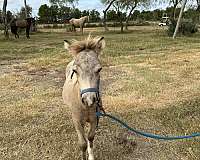
[[83,27],[86,22],[89,22],[89,16],[84,16],[79,19],[72,18],[69,20],[69,23],[73,27],[73,31],[76,31],[76,27],[80,27],[80,31],[83,34]]

